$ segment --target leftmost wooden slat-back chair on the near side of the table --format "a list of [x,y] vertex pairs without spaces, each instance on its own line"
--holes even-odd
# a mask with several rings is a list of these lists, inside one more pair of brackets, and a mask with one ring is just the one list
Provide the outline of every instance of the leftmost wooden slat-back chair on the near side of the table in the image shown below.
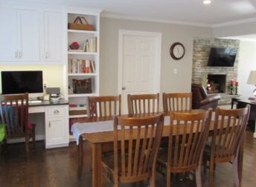
[[164,114],[115,117],[114,155],[103,158],[103,176],[114,186],[145,179],[150,180],[150,186],[156,186],[156,157],[163,125]]

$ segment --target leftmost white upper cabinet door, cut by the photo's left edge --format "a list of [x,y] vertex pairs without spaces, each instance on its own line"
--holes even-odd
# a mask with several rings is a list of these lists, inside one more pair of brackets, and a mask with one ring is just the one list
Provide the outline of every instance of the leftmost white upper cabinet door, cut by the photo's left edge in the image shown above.
[[16,10],[0,7],[0,25],[0,61],[16,61],[19,58]]

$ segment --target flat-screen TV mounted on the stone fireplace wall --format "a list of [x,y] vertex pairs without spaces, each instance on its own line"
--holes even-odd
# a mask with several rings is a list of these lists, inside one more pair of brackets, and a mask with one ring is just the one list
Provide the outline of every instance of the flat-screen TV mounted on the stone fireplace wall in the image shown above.
[[237,49],[211,47],[208,66],[233,67],[237,56]]

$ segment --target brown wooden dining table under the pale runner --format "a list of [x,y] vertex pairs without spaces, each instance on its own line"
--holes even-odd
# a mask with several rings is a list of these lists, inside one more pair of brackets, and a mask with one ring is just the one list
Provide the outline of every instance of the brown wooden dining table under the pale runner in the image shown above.
[[[198,110],[195,110],[193,112],[196,112]],[[153,114],[143,114],[143,115],[122,115],[122,117],[147,117],[147,115],[153,115]],[[167,116],[168,117],[168,116]],[[77,122],[83,123],[93,123],[97,125],[97,123],[101,123],[103,121],[109,122],[109,120],[112,120],[112,117],[104,117],[104,118],[91,118],[91,119],[78,119]],[[170,119],[169,119],[170,120]],[[165,123],[168,120],[164,120]],[[181,127],[179,127],[181,128]],[[214,121],[211,121],[211,125],[209,127],[209,137],[212,136],[214,131]],[[176,125],[173,126],[173,134],[178,135],[182,131],[176,131]],[[170,125],[164,124],[162,138],[169,137],[170,134]],[[78,140],[78,168],[77,168],[77,175],[80,178],[82,171],[83,171],[83,142],[86,140],[89,142],[89,145],[92,148],[92,186],[101,186],[101,174],[102,174],[102,168],[101,168],[101,161],[103,157],[103,153],[106,151],[113,150],[113,142],[114,142],[114,136],[113,131],[97,131],[97,132],[91,132],[91,133],[81,133]],[[240,149],[238,152],[238,177],[241,181],[242,179],[242,169],[243,169],[243,141],[241,142]]]

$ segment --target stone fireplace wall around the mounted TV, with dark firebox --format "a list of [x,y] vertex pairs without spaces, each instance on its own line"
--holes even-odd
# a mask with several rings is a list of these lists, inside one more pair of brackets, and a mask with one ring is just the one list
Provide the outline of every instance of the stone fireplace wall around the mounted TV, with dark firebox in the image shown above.
[[[192,82],[199,83],[207,88],[208,94],[218,93],[221,96],[219,105],[229,105],[231,98],[231,79],[237,80],[239,53],[233,67],[208,66],[208,56],[211,47],[230,47],[239,49],[240,42],[235,39],[194,39]],[[209,85],[210,84],[210,85]]]

